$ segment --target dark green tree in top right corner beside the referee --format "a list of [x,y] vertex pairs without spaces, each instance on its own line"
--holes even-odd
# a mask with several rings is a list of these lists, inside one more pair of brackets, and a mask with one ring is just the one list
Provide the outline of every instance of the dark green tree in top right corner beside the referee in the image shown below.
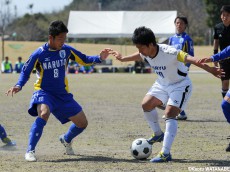
[[220,9],[223,5],[229,5],[229,0],[204,0],[206,4],[206,12],[208,14],[207,25],[213,28],[217,23],[221,22]]

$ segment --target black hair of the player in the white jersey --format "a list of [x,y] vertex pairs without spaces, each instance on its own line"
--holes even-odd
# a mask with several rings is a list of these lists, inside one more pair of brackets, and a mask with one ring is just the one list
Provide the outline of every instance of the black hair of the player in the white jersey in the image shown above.
[[153,43],[156,45],[156,38],[153,31],[145,26],[138,27],[134,30],[132,36],[133,44],[141,44],[149,46],[149,44]]

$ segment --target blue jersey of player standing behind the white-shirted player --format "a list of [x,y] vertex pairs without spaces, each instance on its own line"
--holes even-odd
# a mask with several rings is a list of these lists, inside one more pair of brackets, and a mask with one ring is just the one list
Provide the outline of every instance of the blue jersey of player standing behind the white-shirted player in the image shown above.
[[[194,56],[193,41],[185,32],[182,34],[175,34],[170,37],[169,45],[174,46],[177,50],[182,50],[189,55]],[[190,64],[188,63],[186,66],[189,67]]]

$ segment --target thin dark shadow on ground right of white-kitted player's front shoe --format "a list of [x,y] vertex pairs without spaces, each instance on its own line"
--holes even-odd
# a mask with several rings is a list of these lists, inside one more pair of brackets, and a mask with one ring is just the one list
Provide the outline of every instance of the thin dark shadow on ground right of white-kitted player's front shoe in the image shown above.
[[[229,158],[230,159],[230,158]],[[173,162],[176,163],[183,163],[183,164],[191,164],[191,163],[202,163],[202,164],[209,164],[209,166],[229,166],[230,160],[188,160],[188,159],[173,159]]]

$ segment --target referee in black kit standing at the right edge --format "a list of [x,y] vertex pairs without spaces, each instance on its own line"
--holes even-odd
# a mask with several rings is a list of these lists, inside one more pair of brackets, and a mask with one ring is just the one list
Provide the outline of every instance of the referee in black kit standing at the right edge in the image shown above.
[[[220,18],[222,20],[221,23],[217,24],[214,27],[214,54],[218,53],[218,49],[220,51],[225,49],[230,45],[230,5],[222,6],[220,10]],[[215,66],[218,66],[218,63],[214,63]],[[229,79],[230,79],[230,59],[224,59],[219,61],[219,65],[221,69],[224,69],[225,76],[221,77],[222,84],[222,97],[224,98],[229,89]]]

